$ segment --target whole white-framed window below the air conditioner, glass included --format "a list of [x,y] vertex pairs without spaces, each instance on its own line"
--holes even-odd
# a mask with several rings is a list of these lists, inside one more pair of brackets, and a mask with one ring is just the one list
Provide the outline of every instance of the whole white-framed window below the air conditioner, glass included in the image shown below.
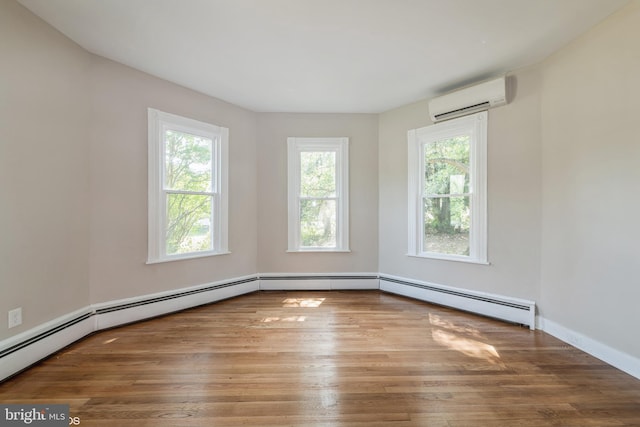
[[409,255],[487,263],[487,112],[408,137]]

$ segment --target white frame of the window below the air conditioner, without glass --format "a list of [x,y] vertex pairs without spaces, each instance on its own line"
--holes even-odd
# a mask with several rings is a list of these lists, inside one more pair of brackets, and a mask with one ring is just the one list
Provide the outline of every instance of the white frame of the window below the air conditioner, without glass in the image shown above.
[[[470,136],[469,197],[471,220],[469,255],[428,252],[424,236],[424,147],[442,139]],[[408,255],[449,261],[488,264],[487,260],[487,112],[437,123],[408,132]]]

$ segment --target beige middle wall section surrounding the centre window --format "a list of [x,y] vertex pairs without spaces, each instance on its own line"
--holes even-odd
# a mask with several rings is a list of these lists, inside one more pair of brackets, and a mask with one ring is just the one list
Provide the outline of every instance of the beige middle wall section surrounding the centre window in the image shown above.
[[[260,273],[378,271],[378,118],[375,114],[260,114]],[[287,253],[287,137],[349,137],[350,253]]]

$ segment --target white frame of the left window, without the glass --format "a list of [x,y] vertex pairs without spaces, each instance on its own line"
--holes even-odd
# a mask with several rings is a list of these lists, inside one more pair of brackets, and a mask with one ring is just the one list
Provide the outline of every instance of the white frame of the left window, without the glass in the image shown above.
[[[148,112],[148,259],[147,264],[200,258],[229,253],[228,249],[228,145],[229,129],[200,122],[153,108]],[[212,250],[167,255],[166,253],[166,203],[168,190],[164,188],[166,130],[210,138],[213,141],[213,169],[216,184],[209,195],[213,196]]]

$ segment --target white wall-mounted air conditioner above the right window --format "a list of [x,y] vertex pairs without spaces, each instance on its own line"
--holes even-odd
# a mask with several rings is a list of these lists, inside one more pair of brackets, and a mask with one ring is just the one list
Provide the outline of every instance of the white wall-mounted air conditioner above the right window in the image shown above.
[[433,98],[429,101],[429,115],[433,122],[439,122],[506,103],[507,87],[503,76]]

